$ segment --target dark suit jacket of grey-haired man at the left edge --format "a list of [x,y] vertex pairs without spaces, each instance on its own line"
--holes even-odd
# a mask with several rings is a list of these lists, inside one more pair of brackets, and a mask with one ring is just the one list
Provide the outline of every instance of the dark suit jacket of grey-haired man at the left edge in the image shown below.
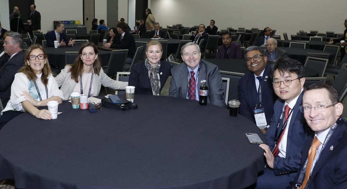
[[[6,54],[0,57],[4,58]],[[0,98],[3,104],[7,103],[11,96],[11,84],[15,79],[18,69],[24,65],[24,52],[19,51],[7,62],[0,65]],[[6,104],[5,104],[6,106]],[[4,106],[4,107],[5,107]]]

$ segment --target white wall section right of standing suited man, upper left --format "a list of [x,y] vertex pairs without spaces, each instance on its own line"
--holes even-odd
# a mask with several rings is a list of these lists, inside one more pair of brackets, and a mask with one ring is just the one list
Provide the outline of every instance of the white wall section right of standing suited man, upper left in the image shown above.
[[42,33],[53,30],[54,20],[81,20],[83,23],[83,0],[59,0],[59,5],[68,5],[59,8],[54,7],[51,0],[35,0],[35,5],[41,13]]

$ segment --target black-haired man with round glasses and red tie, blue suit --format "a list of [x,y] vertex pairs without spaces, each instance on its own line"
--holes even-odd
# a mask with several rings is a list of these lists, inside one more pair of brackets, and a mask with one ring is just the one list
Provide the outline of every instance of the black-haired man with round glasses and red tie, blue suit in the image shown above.
[[271,124],[265,134],[266,168],[260,172],[256,188],[286,188],[296,176],[301,164],[301,150],[308,128],[299,106],[305,83],[304,67],[290,58],[270,65],[273,90],[279,97],[275,102]]

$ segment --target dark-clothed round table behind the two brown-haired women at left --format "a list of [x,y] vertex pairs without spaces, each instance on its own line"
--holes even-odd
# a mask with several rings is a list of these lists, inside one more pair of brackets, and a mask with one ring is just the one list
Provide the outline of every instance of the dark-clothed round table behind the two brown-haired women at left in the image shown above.
[[[45,51],[48,55],[49,64],[64,69],[65,67],[65,52],[78,52],[81,48],[80,45],[74,45],[72,47],[45,47]],[[112,51],[100,50],[99,49],[99,58],[101,60],[102,66],[107,66],[110,59]]]

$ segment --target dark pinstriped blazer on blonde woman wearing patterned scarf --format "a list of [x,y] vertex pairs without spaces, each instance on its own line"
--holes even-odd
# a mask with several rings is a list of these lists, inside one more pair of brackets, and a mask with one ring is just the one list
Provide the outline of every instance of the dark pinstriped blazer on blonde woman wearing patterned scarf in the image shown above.
[[[160,61],[160,91],[163,89],[166,80],[171,75],[171,67],[172,66],[168,61]],[[135,94],[153,95],[150,77],[148,75],[148,70],[145,66],[145,61],[133,65],[129,77],[129,86],[135,87]]]

